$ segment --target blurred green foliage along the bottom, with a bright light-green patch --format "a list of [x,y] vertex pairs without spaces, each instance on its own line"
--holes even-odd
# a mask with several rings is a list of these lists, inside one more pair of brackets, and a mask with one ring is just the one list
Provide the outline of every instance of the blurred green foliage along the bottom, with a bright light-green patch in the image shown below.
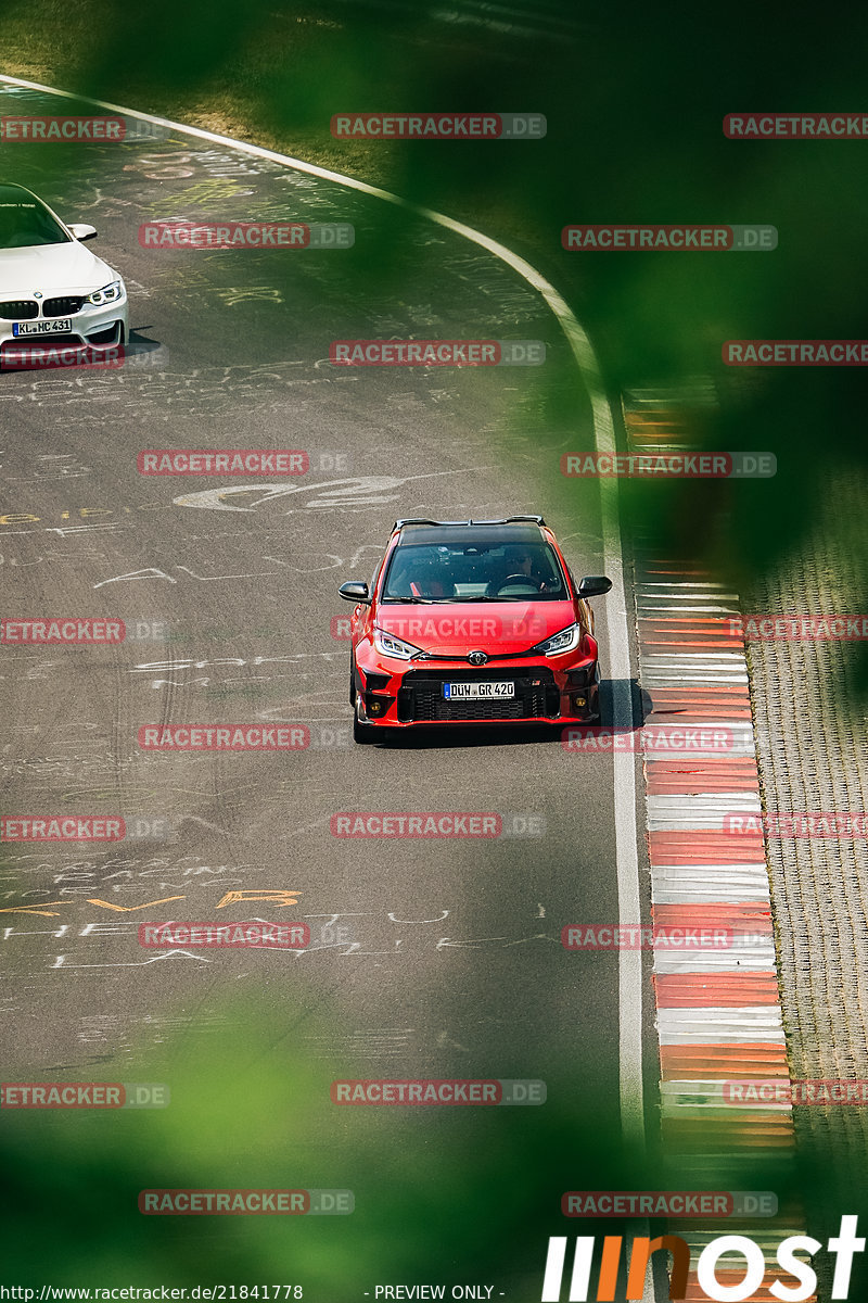
[[[698,1182],[671,1151],[665,1165],[653,1141],[647,1156],[625,1148],[613,1101],[576,1098],[569,1065],[541,1106],[340,1108],[329,1098],[334,1078],[380,1074],[363,1058],[299,1050],[302,1028],[320,1044],[337,1038],[331,1012],[303,1012],[282,1035],[258,1005],[236,1002],[223,1016],[219,1033],[129,1046],[138,1066],[124,1076],[165,1081],[165,1109],[3,1110],[4,1283],[281,1282],[349,1303],[375,1283],[497,1282],[530,1303],[549,1235],[638,1234],[618,1220],[563,1217],[565,1191],[734,1188],[711,1160]],[[592,1040],[587,1048],[592,1055]],[[103,1076],[95,1067],[70,1079]],[[694,1144],[709,1148],[701,1127]],[[860,1210],[828,1164],[803,1154],[793,1170],[786,1158],[744,1164],[738,1188],[773,1190],[785,1212],[812,1188],[815,1209],[828,1209],[828,1225],[811,1218],[820,1239],[841,1212]],[[311,1187],[353,1190],[355,1210],[180,1217],[137,1207],[146,1188]],[[756,1218],[747,1234],[768,1229]]]

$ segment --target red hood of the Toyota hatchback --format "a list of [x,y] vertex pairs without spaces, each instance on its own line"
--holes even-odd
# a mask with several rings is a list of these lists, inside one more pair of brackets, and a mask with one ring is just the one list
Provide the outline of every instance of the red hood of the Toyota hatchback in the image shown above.
[[528,652],[575,620],[571,602],[436,602],[380,605],[376,625],[436,655]]

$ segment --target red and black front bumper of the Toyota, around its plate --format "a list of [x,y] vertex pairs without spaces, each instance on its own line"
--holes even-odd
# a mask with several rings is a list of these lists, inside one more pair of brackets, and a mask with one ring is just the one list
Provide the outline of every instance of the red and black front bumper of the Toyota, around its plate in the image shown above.
[[[557,668],[545,657],[498,661],[474,668],[466,661],[400,662],[372,655],[357,661],[355,691],[360,718],[384,728],[418,724],[591,723],[599,718],[600,671],[596,661],[576,658]],[[450,701],[444,683],[515,684],[513,697]]]

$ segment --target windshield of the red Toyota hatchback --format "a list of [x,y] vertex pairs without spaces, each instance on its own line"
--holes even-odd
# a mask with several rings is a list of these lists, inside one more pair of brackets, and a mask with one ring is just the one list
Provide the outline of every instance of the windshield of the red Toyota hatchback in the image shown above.
[[400,543],[381,602],[562,602],[569,595],[549,543]]

